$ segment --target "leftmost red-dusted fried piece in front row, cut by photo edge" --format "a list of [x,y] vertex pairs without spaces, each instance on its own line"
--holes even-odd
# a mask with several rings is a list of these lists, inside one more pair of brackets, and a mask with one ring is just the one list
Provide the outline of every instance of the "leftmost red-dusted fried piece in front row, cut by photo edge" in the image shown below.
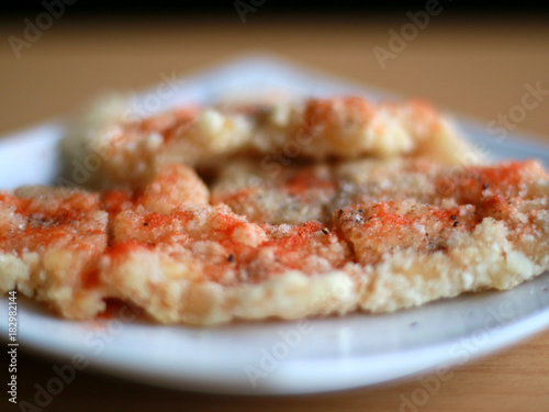
[[107,224],[97,193],[46,187],[1,193],[0,292],[16,288],[71,319],[103,311],[97,261]]

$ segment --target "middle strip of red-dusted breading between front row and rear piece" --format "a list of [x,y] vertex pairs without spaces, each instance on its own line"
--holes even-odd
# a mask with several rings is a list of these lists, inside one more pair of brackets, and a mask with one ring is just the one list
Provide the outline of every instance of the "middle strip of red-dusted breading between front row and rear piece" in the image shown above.
[[531,160],[461,167],[400,157],[290,165],[276,174],[247,160],[219,175],[211,202],[225,203],[258,223],[329,223],[334,210],[360,203],[411,199],[449,207],[490,194],[526,199],[545,176],[541,165]]

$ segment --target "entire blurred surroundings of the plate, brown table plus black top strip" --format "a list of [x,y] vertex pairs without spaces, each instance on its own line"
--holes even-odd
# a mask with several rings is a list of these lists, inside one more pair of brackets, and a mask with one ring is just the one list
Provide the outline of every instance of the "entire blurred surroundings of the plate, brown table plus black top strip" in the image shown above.
[[[509,129],[549,143],[548,9],[547,1],[3,1],[0,134],[65,116],[102,91],[138,90],[161,74],[268,53],[486,125],[514,115]],[[545,333],[468,364],[418,410],[548,411],[548,354]],[[53,360],[23,353],[20,363],[25,399],[51,377]],[[87,374],[49,410],[94,411],[107,402],[141,411],[154,401],[158,410],[402,411],[402,396],[417,387],[411,379],[322,397],[227,399]]]

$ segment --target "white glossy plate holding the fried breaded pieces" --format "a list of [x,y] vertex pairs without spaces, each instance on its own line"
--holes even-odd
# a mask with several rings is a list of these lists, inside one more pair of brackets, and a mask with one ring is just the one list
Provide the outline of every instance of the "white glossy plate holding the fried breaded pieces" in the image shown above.
[[[382,96],[272,59],[248,58],[187,78],[163,104],[211,101],[248,90]],[[516,135],[495,142],[480,123],[460,125],[493,157],[537,157],[549,165],[546,146]],[[1,187],[53,182],[61,133],[61,124],[51,123],[0,141]],[[108,374],[179,389],[248,394],[341,390],[462,364],[539,332],[549,325],[548,288],[545,274],[511,291],[466,294],[392,314],[209,329],[143,321],[69,322],[20,299],[19,350],[57,355],[65,361],[79,354]],[[4,297],[3,338],[7,316]]]

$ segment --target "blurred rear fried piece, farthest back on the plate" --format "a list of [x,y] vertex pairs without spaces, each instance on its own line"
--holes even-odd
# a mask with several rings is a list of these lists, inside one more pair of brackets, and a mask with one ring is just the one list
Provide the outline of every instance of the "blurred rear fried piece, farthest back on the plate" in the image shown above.
[[[93,159],[88,186],[137,187],[167,165],[222,169],[237,157],[265,167],[288,160],[423,156],[467,164],[469,145],[422,101],[359,97],[261,107],[184,107],[139,118],[122,98],[101,100],[76,121],[61,148],[70,177]],[[79,165],[79,166],[78,166]]]

